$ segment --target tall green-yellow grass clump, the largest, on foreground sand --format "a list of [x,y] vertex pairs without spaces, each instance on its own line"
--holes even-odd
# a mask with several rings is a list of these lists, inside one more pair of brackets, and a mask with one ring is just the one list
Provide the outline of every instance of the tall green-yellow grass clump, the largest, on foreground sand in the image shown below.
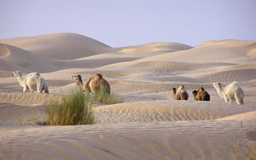
[[47,125],[92,125],[96,123],[89,94],[81,89],[45,107]]

